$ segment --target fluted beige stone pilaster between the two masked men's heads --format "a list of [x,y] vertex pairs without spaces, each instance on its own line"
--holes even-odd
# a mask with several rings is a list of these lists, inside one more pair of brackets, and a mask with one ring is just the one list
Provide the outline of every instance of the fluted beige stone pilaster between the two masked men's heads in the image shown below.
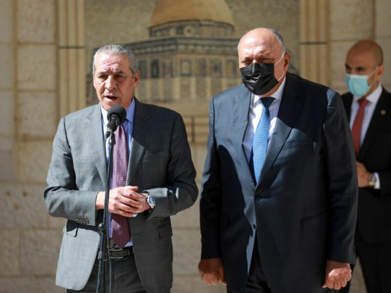
[[329,84],[327,0],[300,0],[300,75]]

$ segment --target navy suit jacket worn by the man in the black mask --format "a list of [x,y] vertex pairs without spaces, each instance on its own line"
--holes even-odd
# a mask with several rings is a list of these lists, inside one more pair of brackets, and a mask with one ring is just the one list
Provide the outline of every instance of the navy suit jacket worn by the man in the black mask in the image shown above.
[[287,74],[258,185],[242,145],[250,102],[244,85],[211,102],[201,258],[221,257],[228,286],[242,292],[257,234],[272,291],[315,292],[326,259],[355,261],[357,175],[341,97]]

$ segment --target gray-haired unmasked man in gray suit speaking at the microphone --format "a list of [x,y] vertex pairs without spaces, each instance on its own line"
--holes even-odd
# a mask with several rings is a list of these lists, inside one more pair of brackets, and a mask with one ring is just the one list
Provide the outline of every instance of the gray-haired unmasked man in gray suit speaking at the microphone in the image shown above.
[[110,190],[109,233],[119,217],[129,238],[121,245],[110,241],[112,292],[162,293],[172,287],[170,216],[194,204],[195,168],[181,116],[133,96],[139,76],[128,48],[100,48],[93,61],[99,104],[63,117],[58,126],[44,198],[50,215],[67,219],[56,275],[56,284],[67,292],[96,290],[108,149],[104,133],[113,105],[126,109],[118,129],[125,133],[129,167],[123,186]]

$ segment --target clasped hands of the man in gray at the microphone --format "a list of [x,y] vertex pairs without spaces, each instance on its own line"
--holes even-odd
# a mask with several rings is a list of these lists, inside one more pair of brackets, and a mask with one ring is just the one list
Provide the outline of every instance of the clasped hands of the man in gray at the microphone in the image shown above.
[[[125,186],[110,189],[109,212],[125,217],[134,217],[134,213],[141,213],[151,209],[147,203],[146,194],[136,192],[137,186]],[[96,196],[95,209],[103,209],[105,205],[105,192]]]

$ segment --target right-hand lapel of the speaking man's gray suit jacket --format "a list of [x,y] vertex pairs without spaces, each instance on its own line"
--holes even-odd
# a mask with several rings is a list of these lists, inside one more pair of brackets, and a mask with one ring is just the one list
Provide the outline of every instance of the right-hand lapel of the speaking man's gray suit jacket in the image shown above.
[[136,98],[135,100],[135,110],[134,110],[134,121],[133,121],[133,131],[130,143],[130,156],[129,156],[129,167],[127,174],[127,184],[135,182],[135,170],[137,170],[141,159],[145,153],[145,146],[148,141],[150,128],[148,126],[147,120],[150,118],[148,111],[145,109],[144,105]]

